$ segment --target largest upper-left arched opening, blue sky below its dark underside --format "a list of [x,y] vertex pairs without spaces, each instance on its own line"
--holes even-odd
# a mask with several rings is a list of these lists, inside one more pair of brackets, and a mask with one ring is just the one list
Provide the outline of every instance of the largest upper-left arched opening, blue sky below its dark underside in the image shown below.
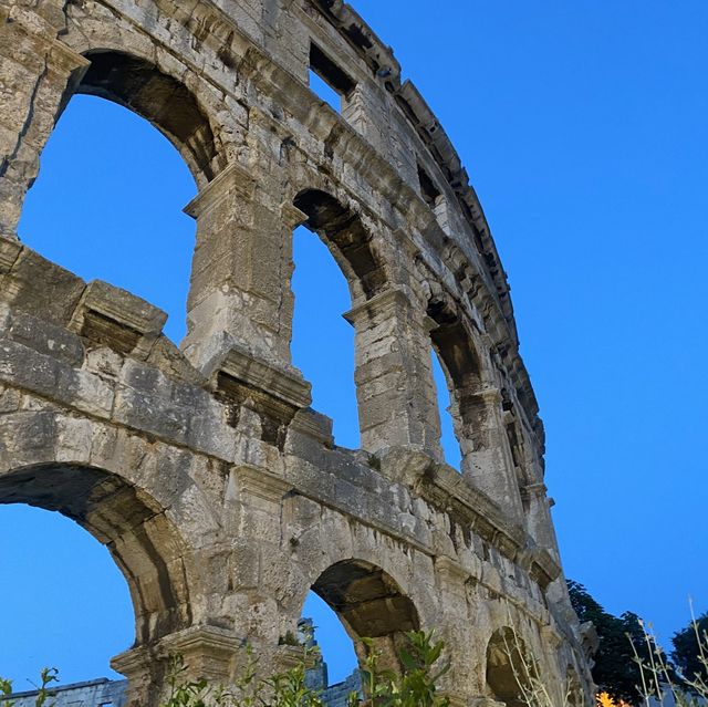
[[165,333],[179,342],[195,243],[183,208],[195,180],[214,176],[214,135],[189,91],[155,65],[119,52],[88,59],[75,90],[87,95],[66,96],[19,235],[80,277],[167,311]]

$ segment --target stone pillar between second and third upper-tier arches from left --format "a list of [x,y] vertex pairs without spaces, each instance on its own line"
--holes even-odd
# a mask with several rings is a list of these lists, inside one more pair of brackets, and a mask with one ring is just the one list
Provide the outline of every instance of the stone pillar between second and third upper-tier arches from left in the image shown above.
[[413,446],[441,459],[430,336],[425,313],[403,289],[345,314],[355,330],[356,398],[362,447]]

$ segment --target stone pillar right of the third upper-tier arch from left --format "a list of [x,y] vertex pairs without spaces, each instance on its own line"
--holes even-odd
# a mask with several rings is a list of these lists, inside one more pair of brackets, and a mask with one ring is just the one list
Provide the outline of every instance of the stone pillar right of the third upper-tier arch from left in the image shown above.
[[521,522],[523,509],[498,388],[458,391],[461,417],[462,474],[507,516]]

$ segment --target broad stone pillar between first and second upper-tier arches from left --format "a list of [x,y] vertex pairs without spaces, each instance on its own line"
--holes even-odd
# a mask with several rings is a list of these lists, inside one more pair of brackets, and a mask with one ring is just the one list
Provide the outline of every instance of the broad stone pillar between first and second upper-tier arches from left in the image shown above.
[[198,368],[235,343],[290,367],[292,231],[308,217],[273,205],[271,187],[280,185],[266,169],[232,163],[185,209],[197,219],[197,243],[183,349]]

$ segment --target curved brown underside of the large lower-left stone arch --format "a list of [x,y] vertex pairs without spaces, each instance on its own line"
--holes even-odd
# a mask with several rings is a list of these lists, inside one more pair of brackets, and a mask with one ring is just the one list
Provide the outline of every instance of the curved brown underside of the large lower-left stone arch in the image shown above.
[[0,505],[28,503],[74,520],[107,547],[126,579],[136,645],[189,626],[189,553],[165,509],[105,469],[64,462],[0,475]]

